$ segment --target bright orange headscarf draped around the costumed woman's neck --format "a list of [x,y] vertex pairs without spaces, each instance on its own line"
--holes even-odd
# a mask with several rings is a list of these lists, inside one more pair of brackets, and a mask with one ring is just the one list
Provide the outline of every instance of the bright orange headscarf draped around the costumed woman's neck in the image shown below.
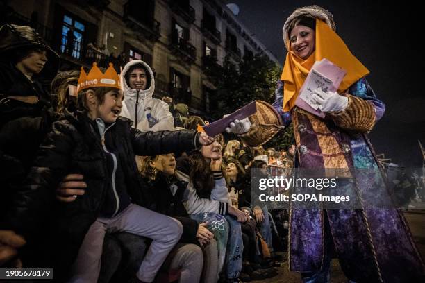
[[295,105],[299,89],[306,80],[308,72],[316,61],[324,58],[347,71],[338,92],[344,92],[357,80],[369,74],[369,70],[349,51],[335,31],[325,22],[316,19],[315,52],[303,60],[293,53],[288,42],[289,51],[286,55],[281,80],[283,85],[283,111],[289,111]]

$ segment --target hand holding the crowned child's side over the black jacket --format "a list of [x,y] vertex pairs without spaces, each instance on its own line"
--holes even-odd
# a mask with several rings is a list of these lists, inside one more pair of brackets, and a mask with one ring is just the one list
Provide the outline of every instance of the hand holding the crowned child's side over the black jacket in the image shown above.
[[68,174],[56,189],[56,199],[64,203],[72,203],[78,196],[85,194],[87,184],[83,181],[84,175]]

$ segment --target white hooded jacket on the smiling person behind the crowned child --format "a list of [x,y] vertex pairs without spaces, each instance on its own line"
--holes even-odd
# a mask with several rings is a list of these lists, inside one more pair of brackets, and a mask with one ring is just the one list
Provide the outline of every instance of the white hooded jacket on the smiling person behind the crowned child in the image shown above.
[[[131,89],[127,85],[125,74],[131,66],[136,64],[142,64],[149,71],[147,76],[151,77],[151,84],[148,89]],[[131,119],[134,122],[134,128],[142,132],[174,130],[174,119],[171,112],[169,112],[168,104],[152,98],[155,91],[155,78],[153,78],[153,72],[147,63],[141,60],[128,62],[121,72],[121,83],[124,91],[121,116]]]

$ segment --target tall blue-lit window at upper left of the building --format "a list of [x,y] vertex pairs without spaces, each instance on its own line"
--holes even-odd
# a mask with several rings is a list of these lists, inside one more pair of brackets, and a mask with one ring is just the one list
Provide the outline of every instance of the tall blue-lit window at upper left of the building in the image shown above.
[[60,52],[81,59],[84,35],[85,24],[78,22],[69,15],[64,15]]

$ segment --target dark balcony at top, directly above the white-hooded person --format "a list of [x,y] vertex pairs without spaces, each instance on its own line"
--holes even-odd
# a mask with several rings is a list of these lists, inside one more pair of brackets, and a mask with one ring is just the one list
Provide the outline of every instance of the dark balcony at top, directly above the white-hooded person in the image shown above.
[[130,9],[128,5],[129,2],[124,5],[124,22],[128,28],[131,28],[133,31],[140,33],[142,36],[146,37],[148,40],[158,40],[161,36],[161,24],[152,19],[150,23],[138,19],[137,11]]

